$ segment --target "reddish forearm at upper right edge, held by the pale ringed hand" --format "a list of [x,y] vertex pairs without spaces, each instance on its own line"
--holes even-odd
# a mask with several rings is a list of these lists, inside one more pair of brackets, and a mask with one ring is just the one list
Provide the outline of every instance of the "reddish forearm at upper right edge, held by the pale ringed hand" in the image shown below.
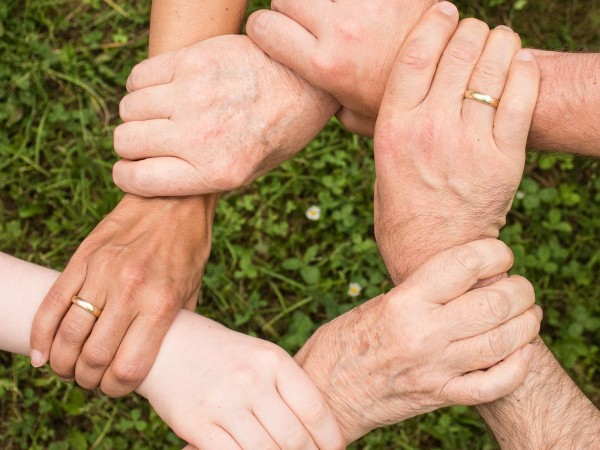
[[542,82],[529,146],[600,157],[600,53],[534,53]]

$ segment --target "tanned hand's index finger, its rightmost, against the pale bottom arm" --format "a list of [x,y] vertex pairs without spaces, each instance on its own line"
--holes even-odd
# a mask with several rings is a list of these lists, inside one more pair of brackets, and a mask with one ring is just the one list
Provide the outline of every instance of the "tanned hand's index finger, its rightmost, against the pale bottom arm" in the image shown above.
[[[165,305],[174,302],[165,299]],[[146,378],[158,355],[160,344],[175,320],[178,308],[155,311],[154,316],[139,314],[129,326],[117,354],[104,373],[100,388],[110,397],[134,391]]]

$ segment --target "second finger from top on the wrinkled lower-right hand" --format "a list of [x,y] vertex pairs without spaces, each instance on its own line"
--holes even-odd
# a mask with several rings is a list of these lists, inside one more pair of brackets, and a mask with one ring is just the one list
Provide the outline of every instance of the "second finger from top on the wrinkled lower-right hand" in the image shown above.
[[474,289],[434,311],[451,341],[467,339],[496,328],[527,311],[535,303],[533,286],[512,276]]

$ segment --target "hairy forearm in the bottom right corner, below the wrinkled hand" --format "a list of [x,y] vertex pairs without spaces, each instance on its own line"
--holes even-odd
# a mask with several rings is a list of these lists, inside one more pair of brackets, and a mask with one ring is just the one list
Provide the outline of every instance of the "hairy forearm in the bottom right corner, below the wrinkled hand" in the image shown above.
[[525,383],[477,407],[506,449],[599,448],[600,411],[565,373],[541,339]]

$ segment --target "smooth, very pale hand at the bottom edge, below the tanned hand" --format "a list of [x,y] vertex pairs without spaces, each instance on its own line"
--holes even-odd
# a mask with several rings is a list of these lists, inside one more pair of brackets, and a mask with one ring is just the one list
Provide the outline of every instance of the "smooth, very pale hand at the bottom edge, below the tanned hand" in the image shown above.
[[327,403],[281,348],[181,312],[138,392],[201,449],[340,449]]

